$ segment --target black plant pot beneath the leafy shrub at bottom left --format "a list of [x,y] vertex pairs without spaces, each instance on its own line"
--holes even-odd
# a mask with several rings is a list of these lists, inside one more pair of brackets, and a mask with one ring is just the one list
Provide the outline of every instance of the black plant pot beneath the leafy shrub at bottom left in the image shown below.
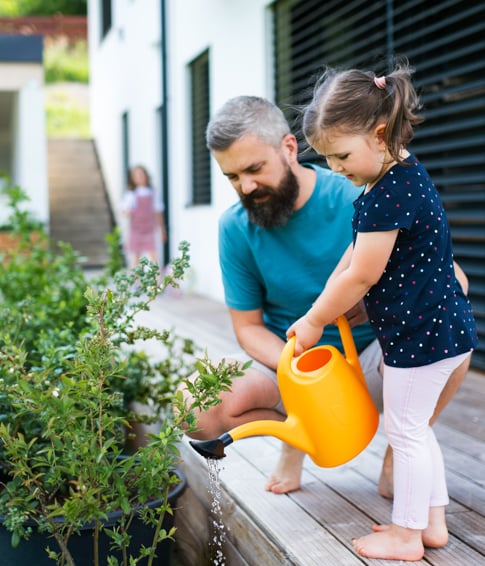
[[[174,472],[180,479],[174,489],[170,492],[169,502],[174,508],[177,498],[182,494],[187,486],[187,479],[180,470]],[[151,508],[160,505],[160,500],[149,504]],[[120,513],[110,513],[105,525],[111,527],[116,524]],[[174,525],[174,516],[166,513],[163,520],[163,528],[169,531]],[[132,537],[129,552],[138,555],[140,547],[150,546],[153,540],[153,529],[143,524],[139,518],[135,518],[128,531]],[[17,548],[12,548],[10,544],[11,533],[5,529],[0,517],[0,564],[1,566],[53,566],[55,562],[47,556],[46,547],[58,551],[57,543],[52,537],[44,533],[39,533],[35,526],[29,540],[22,540]],[[101,533],[99,541],[100,564],[107,564],[107,556],[113,555],[121,559],[121,555],[110,550],[109,537]],[[72,535],[69,539],[68,547],[76,566],[91,566],[93,564],[93,529],[86,526],[81,529],[79,535]],[[173,553],[173,541],[167,539],[157,546],[157,558],[153,561],[154,566],[171,566]],[[144,559],[138,564],[146,565],[148,559]]]

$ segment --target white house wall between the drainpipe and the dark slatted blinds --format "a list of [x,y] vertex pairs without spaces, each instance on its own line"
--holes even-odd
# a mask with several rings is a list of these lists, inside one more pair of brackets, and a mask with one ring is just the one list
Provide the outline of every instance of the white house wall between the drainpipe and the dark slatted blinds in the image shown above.
[[189,65],[209,48],[211,113],[232,96],[269,95],[267,4],[263,0],[172,0],[167,7],[172,239],[191,244],[195,290],[221,301],[217,223],[237,197],[212,161],[212,205],[186,206],[191,192]]

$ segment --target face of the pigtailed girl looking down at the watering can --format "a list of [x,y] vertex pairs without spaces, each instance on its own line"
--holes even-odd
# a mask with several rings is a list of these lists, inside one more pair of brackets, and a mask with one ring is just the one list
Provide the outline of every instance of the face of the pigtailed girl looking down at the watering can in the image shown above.
[[332,171],[347,177],[356,187],[368,189],[392,165],[379,126],[368,134],[357,135],[329,130],[313,148],[327,160]]

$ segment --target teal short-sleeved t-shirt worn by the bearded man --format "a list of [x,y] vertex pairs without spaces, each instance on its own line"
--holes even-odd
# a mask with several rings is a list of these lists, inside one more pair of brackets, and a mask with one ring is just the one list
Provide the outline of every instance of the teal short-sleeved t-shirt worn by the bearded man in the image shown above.
[[[312,167],[317,179],[305,205],[282,226],[249,222],[240,202],[219,222],[219,259],[225,301],[235,310],[262,309],[267,327],[286,340],[288,327],[311,307],[352,241],[353,202],[362,192],[345,177]],[[361,351],[375,335],[368,324],[353,329]],[[341,348],[338,329],[325,328],[320,343]]]

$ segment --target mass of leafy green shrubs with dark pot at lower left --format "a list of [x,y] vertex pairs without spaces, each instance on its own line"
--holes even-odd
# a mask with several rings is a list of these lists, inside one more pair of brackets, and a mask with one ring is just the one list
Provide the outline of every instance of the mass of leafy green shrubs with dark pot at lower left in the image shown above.
[[[0,522],[13,547],[9,559],[2,545],[2,560],[170,564],[160,553],[174,536],[171,495],[183,485],[178,443],[194,426],[192,409],[216,404],[240,375],[237,364],[213,366],[190,341],[137,323],[178,285],[188,244],[160,284],[149,262],[87,284],[69,246],[53,246],[42,230],[35,242],[19,233],[29,253],[12,255],[0,275]],[[140,349],[153,339],[164,352],[156,361]],[[190,407],[176,393],[184,380]],[[134,414],[133,400],[150,415]],[[160,431],[128,451],[130,421],[153,415]],[[31,550],[38,540],[42,550]]]

